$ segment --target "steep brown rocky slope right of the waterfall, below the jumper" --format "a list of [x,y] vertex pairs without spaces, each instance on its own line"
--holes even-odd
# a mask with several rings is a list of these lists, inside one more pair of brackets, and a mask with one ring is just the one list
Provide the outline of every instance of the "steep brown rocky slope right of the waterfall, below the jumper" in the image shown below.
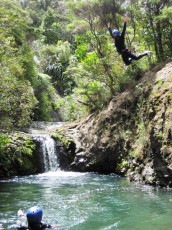
[[70,169],[172,187],[172,62],[147,72],[103,111],[64,132],[73,146],[65,155]]

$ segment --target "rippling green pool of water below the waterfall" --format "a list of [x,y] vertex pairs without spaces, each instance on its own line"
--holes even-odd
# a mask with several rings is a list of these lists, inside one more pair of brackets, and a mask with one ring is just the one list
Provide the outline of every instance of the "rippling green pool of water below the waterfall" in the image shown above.
[[48,172],[0,181],[0,224],[15,229],[17,210],[38,205],[64,230],[171,230],[172,190],[115,175]]

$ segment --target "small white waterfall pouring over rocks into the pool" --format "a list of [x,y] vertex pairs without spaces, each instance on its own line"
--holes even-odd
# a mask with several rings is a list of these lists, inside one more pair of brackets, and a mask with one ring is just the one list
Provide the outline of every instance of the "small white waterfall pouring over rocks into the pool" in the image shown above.
[[49,134],[41,133],[32,134],[31,137],[40,144],[44,171],[57,171],[59,164],[56,152],[56,144],[53,138],[51,138]]

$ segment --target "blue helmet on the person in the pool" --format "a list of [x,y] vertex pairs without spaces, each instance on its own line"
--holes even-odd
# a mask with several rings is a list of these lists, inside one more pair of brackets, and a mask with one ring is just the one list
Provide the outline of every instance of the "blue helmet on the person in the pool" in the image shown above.
[[37,206],[29,208],[26,213],[28,223],[40,223],[42,220],[42,215],[42,209]]

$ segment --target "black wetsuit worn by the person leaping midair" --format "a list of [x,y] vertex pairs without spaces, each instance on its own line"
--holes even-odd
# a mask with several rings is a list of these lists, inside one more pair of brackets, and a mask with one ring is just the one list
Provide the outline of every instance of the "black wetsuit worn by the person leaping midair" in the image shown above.
[[120,36],[114,37],[112,34],[111,27],[109,27],[108,30],[109,30],[110,35],[114,39],[114,43],[115,43],[117,52],[122,56],[122,59],[126,65],[130,65],[132,60],[139,60],[140,58],[147,55],[147,53],[143,53],[137,56],[131,53],[131,51],[126,48],[126,45],[125,45],[126,22],[124,22],[123,30]]

